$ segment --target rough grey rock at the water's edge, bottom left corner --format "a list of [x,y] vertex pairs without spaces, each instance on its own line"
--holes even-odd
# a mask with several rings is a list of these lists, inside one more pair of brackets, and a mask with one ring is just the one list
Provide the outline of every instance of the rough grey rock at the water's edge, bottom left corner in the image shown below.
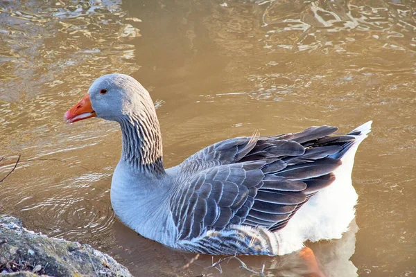
[[88,244],[48,238],[0,215],[2,276],[132,276],[128,269]]

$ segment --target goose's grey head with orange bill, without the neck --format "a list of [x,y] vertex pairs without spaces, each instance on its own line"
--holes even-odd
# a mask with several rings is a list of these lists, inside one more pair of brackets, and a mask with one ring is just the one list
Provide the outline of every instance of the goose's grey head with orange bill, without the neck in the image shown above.
[[97,116],[120,122],[153,109],[148,91],[135,78],[114,73],[96,79],[88,93],[64,114],[64,120],[74,123]]

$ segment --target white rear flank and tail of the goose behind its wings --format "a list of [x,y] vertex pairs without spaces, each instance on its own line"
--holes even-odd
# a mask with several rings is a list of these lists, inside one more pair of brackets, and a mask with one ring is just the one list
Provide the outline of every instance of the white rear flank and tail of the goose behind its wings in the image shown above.
[[286,227],[276,233],[279,255],[302,249],[306,240],[339,239],[348,230],[349,222],[355,217],[354,206],[358,200],[351,180],[354,157],[358,145],[370,133],[371,124],[372,121],[368,121],[352,131],[361,134],[355,136],[354,145],[341,158],[343,164],[333,171],[336,177],[333,184],[311,197]]

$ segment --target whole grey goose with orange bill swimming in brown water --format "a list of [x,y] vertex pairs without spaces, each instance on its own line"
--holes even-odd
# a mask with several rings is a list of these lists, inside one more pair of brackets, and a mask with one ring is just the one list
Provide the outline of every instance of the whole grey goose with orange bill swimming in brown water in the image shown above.
[[167,247],[284,255],[306,240],[341,238],[354,218],[354,155],[371,121],[345,135],[325,125],[227,139],[166,169],[155,107],[137,80],[101,76],[64,119],[94,116],[121,126],[121,159],[111,184],[114,213]]

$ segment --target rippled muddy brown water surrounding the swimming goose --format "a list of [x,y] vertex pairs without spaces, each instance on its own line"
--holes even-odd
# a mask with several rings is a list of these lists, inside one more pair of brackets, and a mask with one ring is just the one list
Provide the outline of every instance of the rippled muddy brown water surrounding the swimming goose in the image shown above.
[[[21,155],[0,211],[28,229],[92,244],[135,276],[220,275],[211,256],[114,217],[116,124],[62,120],[94,78],[119,72],[150,91],[166,166],[255,129],[374,120],[353,172],[356,225],[309,246],[326,276],[416,276],[415,1],[2,1],[0,64],[0,179]],[[267,276],[305,269],[295,255],[242,260]],[[222,276],[250,276],[239,266]]]

